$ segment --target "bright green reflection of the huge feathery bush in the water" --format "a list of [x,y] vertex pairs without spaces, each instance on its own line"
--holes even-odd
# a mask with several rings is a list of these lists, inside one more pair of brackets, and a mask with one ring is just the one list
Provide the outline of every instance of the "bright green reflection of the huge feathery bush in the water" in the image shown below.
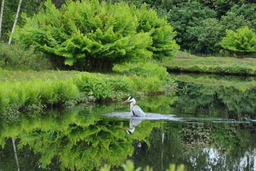
[[96,113],[86,116],[77,110],[66,114],[52,113],[50,117],[20,118],[19,121],[1,126],[1,144],[14,136],[20,139],[19,149],[30,147],[40,154],[43,168],[53,159],[61,169],[97,169],[105,162],[111,166],[123,164],[134,151],[133,139],[150,143],[145,139],[158,123],[144,123],[129,135],[122,129],[129,123],[102,120]]

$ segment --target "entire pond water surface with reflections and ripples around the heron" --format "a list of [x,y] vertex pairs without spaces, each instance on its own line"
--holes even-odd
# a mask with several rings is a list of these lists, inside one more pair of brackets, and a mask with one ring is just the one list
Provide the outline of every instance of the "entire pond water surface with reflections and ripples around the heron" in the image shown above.
[[[256,78],[172,75],[175,95],[1,118],[0,170],[256,170]],[[15,140],[17,157],[12,139]]]

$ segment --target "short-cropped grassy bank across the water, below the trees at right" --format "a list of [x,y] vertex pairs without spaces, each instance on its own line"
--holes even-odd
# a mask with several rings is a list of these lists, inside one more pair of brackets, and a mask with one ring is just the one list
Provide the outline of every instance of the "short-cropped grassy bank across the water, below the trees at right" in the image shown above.
[[168,72],[193,72],[221,75],[256,75],[256,59],[228,57],[196,57],[179,52],[174,59],[166,59],[162,66]]

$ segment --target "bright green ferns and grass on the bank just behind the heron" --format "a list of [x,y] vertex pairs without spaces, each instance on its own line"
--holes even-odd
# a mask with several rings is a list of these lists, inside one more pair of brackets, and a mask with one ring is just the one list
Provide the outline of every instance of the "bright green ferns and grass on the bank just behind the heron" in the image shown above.
[[[163,93],[171,95],[176,87],[162,66],[154,63],[143,67],[141,64],[130,66],[133,67],[116,66],[112,74],[0,69],[0,113],[18,116],[20,112],[38,112],[79,102],[121,101],[129,96],[139,98]],[[139,72],[140,67],[145,72]],[[150,72],[147,67],[155,67],[158,74]]]

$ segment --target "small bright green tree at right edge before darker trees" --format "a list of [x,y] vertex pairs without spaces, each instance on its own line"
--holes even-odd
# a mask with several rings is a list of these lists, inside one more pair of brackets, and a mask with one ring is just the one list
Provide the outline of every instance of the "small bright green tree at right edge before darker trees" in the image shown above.
[[256,34],[247,26],[236,32],[227,29],[220,45],[237,54],[256,52]]

